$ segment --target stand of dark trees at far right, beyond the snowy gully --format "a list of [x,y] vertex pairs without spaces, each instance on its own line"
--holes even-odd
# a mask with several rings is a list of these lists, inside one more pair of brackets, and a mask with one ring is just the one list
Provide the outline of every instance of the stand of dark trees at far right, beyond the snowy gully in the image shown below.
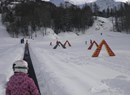
[[130,33],[130,4],[125,3],[121,5],[119,10],[115,8],[115,11],[114,18],[116,30]]

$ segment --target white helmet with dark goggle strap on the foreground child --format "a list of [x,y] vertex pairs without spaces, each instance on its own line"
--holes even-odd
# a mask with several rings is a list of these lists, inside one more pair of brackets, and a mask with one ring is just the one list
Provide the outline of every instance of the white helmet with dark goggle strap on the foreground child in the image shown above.
[[28,63],[25,60],[17,60],[13,64],[14,72],[28,73]]

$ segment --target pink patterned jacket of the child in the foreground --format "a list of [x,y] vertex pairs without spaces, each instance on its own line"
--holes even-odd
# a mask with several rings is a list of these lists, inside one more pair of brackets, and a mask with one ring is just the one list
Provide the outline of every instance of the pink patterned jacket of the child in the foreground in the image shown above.
[[25,73],[15,73],[7,83],[6,95],[40,95],[34,81]]

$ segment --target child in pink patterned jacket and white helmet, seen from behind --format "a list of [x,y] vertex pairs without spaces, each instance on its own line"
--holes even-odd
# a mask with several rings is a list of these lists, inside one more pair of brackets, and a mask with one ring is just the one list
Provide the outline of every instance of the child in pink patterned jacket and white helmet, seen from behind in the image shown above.
[[7,83],[6,95],[40,95],[32,78],[28,76],[28,64],[17,60],[13,64],[14,75]]

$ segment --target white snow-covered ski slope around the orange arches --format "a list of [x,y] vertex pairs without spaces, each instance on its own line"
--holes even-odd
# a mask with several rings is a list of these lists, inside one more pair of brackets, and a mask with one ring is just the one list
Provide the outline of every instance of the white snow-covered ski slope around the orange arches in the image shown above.
[[[109,19],[99,17],[93,27],[79,36],[54,35],[48,30],[51,34],[47,37],[29,40],[41,95],[130,95],[130,35],[111,29]],[[93,58],[96,46],[88,50],[90,40],[99,44],[103,39],[116,56],[110,57],[103,46],[99,57]],[[6,81],[13,74],[11,65],[24,52],[20,39],[6,40],[0,41],[0,95],[5,95]],[[53,49],[57,40],[68,40],[71,47]]]

